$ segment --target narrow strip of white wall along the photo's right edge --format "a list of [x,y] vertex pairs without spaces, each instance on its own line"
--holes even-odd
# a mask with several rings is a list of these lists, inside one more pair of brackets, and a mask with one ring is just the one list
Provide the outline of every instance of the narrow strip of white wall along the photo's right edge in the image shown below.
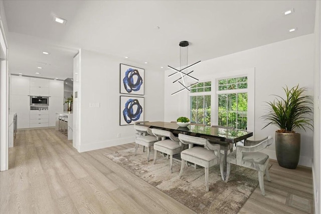
[[314,27],[314,132],[313,132],[313,161],[312,161],[312,175],[313,175],[313,194],[314,194],[314,210],[315,213],[320,213],[320,170],[321,170],[321,150],[320,150],[320,70],[321,70],[321,3],[316,1],[315,6],[315,27]]

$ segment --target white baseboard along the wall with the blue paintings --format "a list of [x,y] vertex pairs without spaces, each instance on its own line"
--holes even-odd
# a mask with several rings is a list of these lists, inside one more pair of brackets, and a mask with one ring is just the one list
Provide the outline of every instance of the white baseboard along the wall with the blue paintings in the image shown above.
[[134,136],[94,142],[94,143],[80,145],[78,152],[92,151],[96,149],[102,149],[102,148],[107,148],[111,146],[118,146],[118,145],[132,143],[132,142],[135,142]]

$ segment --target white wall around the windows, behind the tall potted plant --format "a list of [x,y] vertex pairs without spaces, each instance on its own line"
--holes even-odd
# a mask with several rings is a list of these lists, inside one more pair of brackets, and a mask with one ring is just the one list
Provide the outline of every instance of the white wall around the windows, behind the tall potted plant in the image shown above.
[[[256,139],[267,135],[274,137],[277,129],[274,126],[264,126],[260,118],[264,113],[264,101],[273,100],[272,94],[284,95],[282,87],[285,85],[293,87],[299,84],[308,87],[309,93],[313,93],[313,34],[297,37],[282,42],[277,42],[258,48],[234,53],[231,55],[204,61],[193,67],[194,77],[200,81],[210,76],[221,75],[255,68],[255,129]],[[177,91],[177,85],[173,85],[172,79],[165,74],[165,121],[175,120],[179,116],[187,115],[186,96],[187,93],[179,93],[171,96]],[[178,102],[179,101],[179,102]],[[312,131],[301,133],[300,165],[311,166],[313,139]],[[274,143],[265,152],[270,158],[276,159]]]

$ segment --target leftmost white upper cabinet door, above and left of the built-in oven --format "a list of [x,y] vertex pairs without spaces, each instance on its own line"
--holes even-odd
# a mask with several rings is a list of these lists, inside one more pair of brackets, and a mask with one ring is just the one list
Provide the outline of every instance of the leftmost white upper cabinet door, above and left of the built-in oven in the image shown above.
[[12,95],[29,95],[30,94],[30,77],[21,77],[11,75],[11,94]]

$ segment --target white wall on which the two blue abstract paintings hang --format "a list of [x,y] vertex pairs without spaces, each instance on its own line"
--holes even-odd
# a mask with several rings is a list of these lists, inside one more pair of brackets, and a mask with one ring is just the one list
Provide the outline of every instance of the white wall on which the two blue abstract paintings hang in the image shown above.
[[[134,142],[133,125],[119,126],[119,96],[125,95],[119,93],[120,63],[145,69],[144,120],[164,120],[163,72],[83,49],[80,57],[79,151]],[[89,108],[89,103],[97,102],[100,103],[99,108]],[[117,134],[120,134],[119,138]]]

